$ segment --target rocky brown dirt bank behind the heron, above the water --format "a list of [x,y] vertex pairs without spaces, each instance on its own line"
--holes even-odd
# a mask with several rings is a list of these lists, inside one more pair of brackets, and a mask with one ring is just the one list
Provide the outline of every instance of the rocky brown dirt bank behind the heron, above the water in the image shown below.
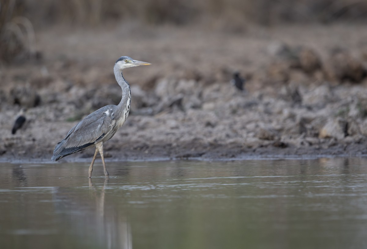
[[[43,59],[1,67],[0,160],[47,160],[83,116],[117,104],[112,67],[122,55],[152,65],[124,71],[132,109],[105,144],[111,160],[363,156],[366,38],[358,25],[39,31]],[[246,93],[230,85],[234,71]],[[12,135],[21,107],[28,121]]]

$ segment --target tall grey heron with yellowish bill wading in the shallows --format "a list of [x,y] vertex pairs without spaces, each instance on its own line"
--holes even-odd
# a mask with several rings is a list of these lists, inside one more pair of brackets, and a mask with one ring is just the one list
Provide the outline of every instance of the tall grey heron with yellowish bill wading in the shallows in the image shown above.
[[150,65],[148,62],[133,60],[131,57],[120,57],[113,67],[115,78],[122,89],[122,98],[118,105],[106,105],[92,112],[74,126],[66,137],[57,143],[52,161],[57,161],[64,156],[95,146],[92,163],[89,166],[89,178],[92,177],[93,164],[97,152],[101,155],[103,171],[109,177],[105,159],[103,157],[103,143],[115,135],[116,131],[125,123],[129,115],[131,91],[129,83],[124,79],[122,70],[129,67]]

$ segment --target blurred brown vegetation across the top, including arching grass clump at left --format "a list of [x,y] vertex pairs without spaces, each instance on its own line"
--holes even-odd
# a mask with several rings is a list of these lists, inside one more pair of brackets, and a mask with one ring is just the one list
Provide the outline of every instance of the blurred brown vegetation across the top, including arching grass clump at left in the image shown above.
[[0,0],[0,60],[36,57],[34,30],[113,23],[202,25],[242,32],[247,25],[366,22],[366,0]]

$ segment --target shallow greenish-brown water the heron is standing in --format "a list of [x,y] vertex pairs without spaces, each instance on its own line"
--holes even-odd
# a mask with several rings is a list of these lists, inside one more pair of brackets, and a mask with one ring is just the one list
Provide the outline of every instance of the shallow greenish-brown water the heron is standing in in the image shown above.
[[0,164],[0,248],[367,248],[367,160]]

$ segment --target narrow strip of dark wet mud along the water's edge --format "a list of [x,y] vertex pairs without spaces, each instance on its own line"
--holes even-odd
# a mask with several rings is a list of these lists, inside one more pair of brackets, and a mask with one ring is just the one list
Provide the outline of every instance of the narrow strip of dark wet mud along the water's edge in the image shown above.
[[[319,157],[366,157],[366,141],[359,144],[338,144],[329,148],[322,145],[303,147],[278,148],[274,145],[258,148],[244,148],[238,144],[232,145],[196,145],[191,144],[172,147],[170,144],[153,145],[149,148],[142,144],[142,149],[132,149],[130,146],[121,146],[119,149],[105,150],[106,161],[152,161],[152,160],[248,160],[248,159],[310,159]],[[19,148],[17,148],[18,150]],[[51,162],[51,149],[39,151],[33,146],[25,146],[22,153],[9,151],[0,157],[2,162],[12,161],[42,161]],[[89,162],[93,157],[94,149],[85,150],[75,155],[64,157],[59,162],[82,161]],[[100,159],[97,159],[99,161]]]

